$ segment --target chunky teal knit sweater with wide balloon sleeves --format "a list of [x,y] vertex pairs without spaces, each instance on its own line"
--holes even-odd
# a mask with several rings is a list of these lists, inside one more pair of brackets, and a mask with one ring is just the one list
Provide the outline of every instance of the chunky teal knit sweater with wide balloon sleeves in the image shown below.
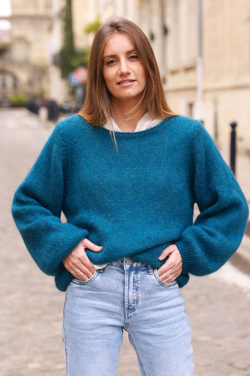
[[239,247],[249,210],[202,124],[173,116],[115,136],[118,153],[108,129],[79,115],[60,121],[16,190],[12,215],[39,268],[65,291],[73,275],[62,260],[88,238],[103,247],[85,249],[93,264],[130,256],[159,268],[162,250],[176,244],[180,287],[189,273],[219,269]]

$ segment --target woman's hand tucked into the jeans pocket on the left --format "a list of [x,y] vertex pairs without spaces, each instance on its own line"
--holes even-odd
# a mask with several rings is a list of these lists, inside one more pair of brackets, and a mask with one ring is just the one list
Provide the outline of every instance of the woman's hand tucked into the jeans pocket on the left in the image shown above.
[[[80,243],[63,259],[63,265],[74,277],[83,281],[90,279],[95,268],[93,267],[90,259],[85,253],[85,248],[94,252],[100,252],[102,246],[97,246],[87,238],[84,238]],[[79,273],[81,271],[81,273]]]

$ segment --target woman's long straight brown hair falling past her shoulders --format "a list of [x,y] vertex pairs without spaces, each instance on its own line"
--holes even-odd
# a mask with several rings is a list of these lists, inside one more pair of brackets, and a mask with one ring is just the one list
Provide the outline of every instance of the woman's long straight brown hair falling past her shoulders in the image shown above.
[[115,33],[124,33],[131,40],[146,73],[141,100],[127,115],[132,118],[138,109],[144,109],[154,119],[179,115],[166,102],[159,68],[147,36],[135,23],[123,17],[110,18],[96,31],[88,63],[85,102],[78,115],[97,127],[107,121],[111,124],[111,95],[105,86],[102,71],[104,45]]

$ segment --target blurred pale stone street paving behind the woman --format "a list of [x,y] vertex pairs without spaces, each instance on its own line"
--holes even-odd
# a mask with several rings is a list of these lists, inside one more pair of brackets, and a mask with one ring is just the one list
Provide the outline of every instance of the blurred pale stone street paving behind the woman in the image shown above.
[[[51,125],[24,109],[0,109],[1,376],[66,375],[61,340],[65,293],[36,266],[10,212],[13,194],[42,149]],[[250,201],[246,158],[238,156],[237,179]],[[195,376],[250,376],[250,277],[228,262],[209,276],[192,277],[182,291],[192,327]],[[140,372],[124,331],[118,376],[127,375],[139,376]]]

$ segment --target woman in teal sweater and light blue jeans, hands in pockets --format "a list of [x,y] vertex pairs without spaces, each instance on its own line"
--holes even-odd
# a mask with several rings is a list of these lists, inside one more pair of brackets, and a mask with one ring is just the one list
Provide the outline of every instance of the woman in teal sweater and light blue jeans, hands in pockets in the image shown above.
[[167,105],[134,23],[97,30],[84,106],[55,126],[12,213],[37,265],[66,291],[68,376],[116,375],[123,329],[142,375],[193,375],[180,288],[237,250],[248,206],[201,123]]

